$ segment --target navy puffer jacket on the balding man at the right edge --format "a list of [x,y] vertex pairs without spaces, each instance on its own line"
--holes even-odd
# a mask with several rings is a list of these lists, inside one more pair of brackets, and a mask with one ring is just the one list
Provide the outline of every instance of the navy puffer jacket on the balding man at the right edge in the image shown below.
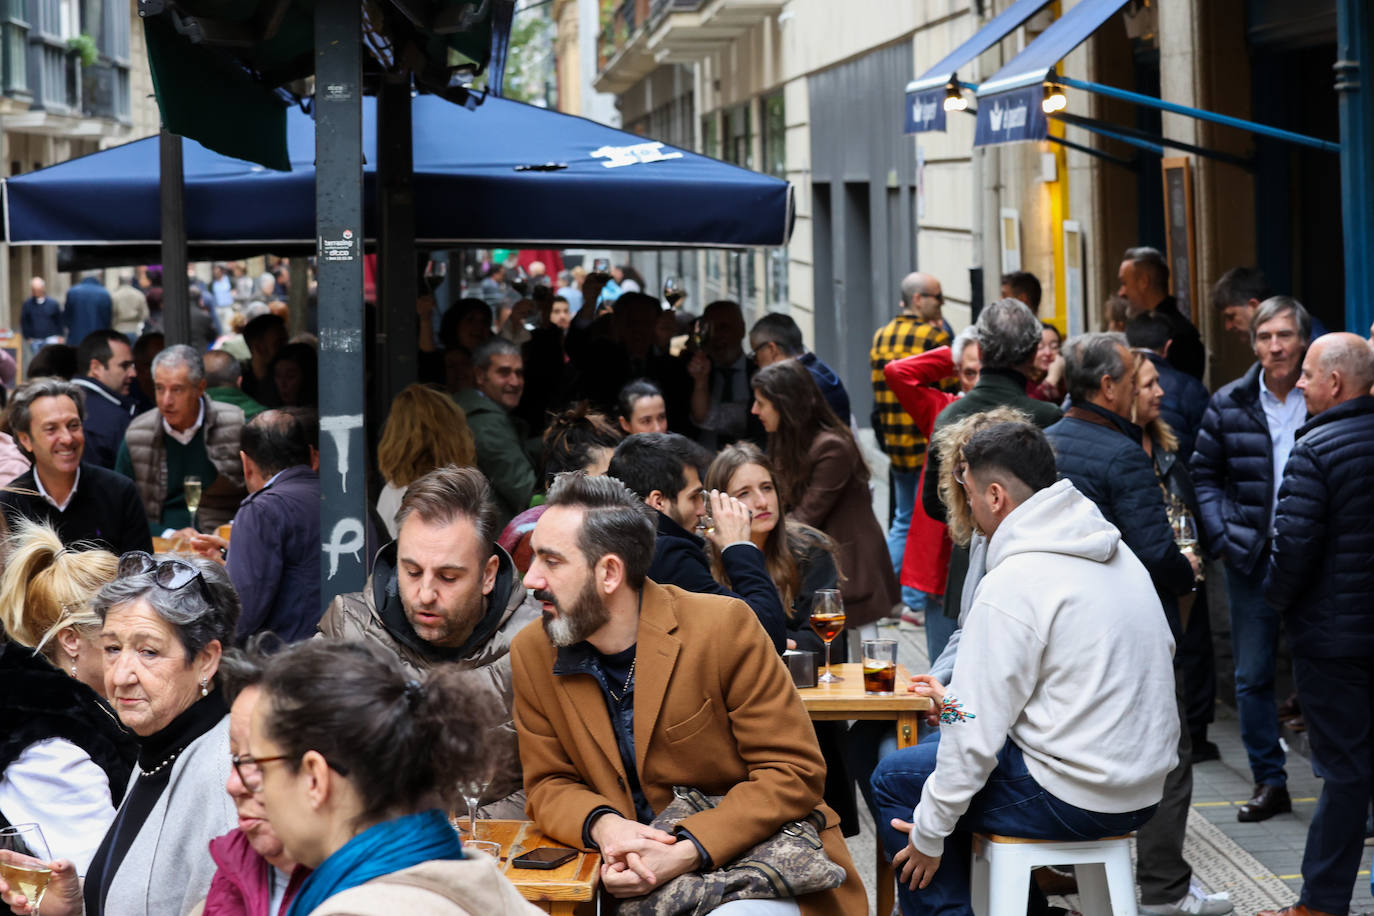
[[1264,593],[1294,655],[1374,656],[1374,397],[1316,415],[1283,468]]

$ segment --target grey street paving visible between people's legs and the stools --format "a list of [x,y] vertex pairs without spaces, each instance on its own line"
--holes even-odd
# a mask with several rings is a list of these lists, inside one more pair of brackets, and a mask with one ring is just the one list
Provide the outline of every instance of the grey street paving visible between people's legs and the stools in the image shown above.
[[[927,665],[925,630],[910,625],[882,625],[883,636],[896,634],[899,661],[912,672]],[[1235,808],[1250,792],[1249,768],[1241,746],[1241,729],[1234,711],[1217,706],[1217,721],[1209,735],[1221,751],[1221,759],[1198,764],[1193,769],[1193,814],[1184,856],[1194,869],[1194,880],[1209,893],[1226,891],[1235,904],[1237,916],[1253,916],[1260,909],[1276,909],[1297,901],[1303,887],[1300,875],[1307,827],[1316,808],[1322,781],[1297,753],[1289,754],[1289,792],[1293,813],[1279,814],[1260,824],[1241,824]],[[860,808],[863,808],[860,805]],[[849,838],[849,851],[868,887],[870,913],[874,906],[874,834],[867,812],[860,813],[863,832]],[[1370,895],[1370,853],[1366,847],[1360,873],[1355,882],[1351,913],[1374,916]],[[1076,901],[1055,901],[1072,906]]]

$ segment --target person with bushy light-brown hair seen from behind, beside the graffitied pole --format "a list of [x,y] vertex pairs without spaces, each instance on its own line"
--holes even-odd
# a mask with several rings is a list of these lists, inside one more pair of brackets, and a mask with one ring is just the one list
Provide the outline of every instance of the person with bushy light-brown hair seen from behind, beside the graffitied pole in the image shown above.
[[407,486],[437,467],[473,467],[475,463],[477,446],[463,408],[429,385],[401,389],[392,401],[376,446],[376,468],[383,481],[376,514],[390,536],[396,537],[396,512]]

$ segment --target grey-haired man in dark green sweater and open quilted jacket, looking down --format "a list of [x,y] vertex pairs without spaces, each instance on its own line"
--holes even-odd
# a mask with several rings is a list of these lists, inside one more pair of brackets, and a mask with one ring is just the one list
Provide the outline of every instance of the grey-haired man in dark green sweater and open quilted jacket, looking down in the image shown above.
[[[234,518],[247,496],[239,460],[243,411],[206,397],[205,363],[184,343],[154,357],[153,389],[157,409],[129,423],[114,470],[139,486],[154,534],[214,531]],[[191,529],[187,479],[201,485],[196,530]]]

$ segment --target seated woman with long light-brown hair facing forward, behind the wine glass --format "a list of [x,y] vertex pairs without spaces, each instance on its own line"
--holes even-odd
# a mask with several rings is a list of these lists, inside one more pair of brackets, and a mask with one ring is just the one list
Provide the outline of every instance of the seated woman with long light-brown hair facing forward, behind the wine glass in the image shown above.
[[[749,507],[753,514],[749,540],[763,551],[768,575],[787,611],[787,645],[820,658],[826,645],[811,629],[811,608],[818,589],[840,588],[834,541],[823,531],[787,518],[778,496],[772,461],[753,442],[736,442],[721,449],[706,470],[705,489],[728,493]],[[712,575],[725,588],[732,588],[720,562],[720,549],[708,544]],[[831,661],[845,661],[845,640],[835,640]],[[827,765],[826,803],[840,814],[841,832],[853,836],[859,832],[859,818],[853,780],[845,765],[846,733],[844,722],[816,722],[816,739]]]

